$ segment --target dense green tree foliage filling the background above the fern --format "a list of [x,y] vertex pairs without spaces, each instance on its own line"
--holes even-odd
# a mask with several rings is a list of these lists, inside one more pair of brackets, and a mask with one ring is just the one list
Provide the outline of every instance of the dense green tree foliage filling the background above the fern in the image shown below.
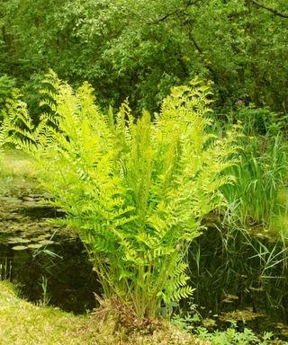
[[261,1],[1,1],[0,73],[23,84],[52,67],[104,105],[130,95],[151,111],[196,74],[214,82],[217,107],[285,111],[286,0]]

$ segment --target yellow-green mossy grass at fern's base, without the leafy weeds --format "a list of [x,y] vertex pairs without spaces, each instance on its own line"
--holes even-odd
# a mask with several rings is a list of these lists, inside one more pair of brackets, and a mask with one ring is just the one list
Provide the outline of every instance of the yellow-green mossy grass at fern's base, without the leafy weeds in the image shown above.
[[78,316],[58,308],[32,305],[19,298],[14,287],[4,281],[0,282],[0,305],[1,345],[209,344],[168,323],[153,334],[128,334],[124,329],[117,330],[114,320],[109,319],[99,330],[99,319],[94,314]]

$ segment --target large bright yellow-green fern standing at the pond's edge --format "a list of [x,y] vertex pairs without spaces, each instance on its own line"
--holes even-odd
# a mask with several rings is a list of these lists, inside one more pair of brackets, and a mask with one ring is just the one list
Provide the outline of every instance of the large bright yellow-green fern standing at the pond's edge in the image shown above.
[[193,293],[185,254],[202,217],[222,202],[235,133],[205,134],[209,88],[197,80],[173,89],[155,119],[147,111],[135,119],[128,102],[115,117],[103,113],[87,83],[73,91],[52,72],[47,82],[49,113],[31,130],[16,104],[30,129],[14,126],[11,140],[34,157],[41,183],[66,210],[104,295],[154,318],[162,304]]

